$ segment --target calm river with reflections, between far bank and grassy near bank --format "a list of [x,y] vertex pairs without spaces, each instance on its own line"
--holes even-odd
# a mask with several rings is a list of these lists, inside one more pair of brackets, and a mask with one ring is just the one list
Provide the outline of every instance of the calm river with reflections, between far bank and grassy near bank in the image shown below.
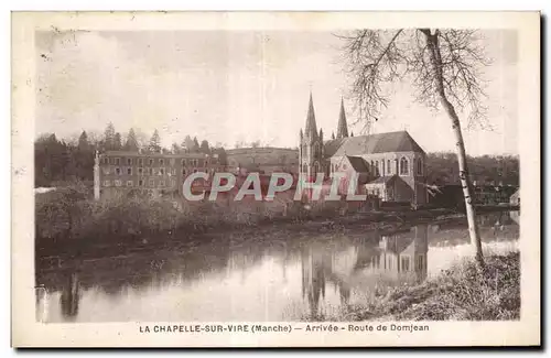
[[[486,253],[518,249],[518,213],[477,219]],[[420,283],[472,256],[465,219],[396,230],[329,226],[220,235],[193,246],[39,268],[37,285],[44,289],[36,294],[37,319],[317,319],[377,300],[389,288]]]

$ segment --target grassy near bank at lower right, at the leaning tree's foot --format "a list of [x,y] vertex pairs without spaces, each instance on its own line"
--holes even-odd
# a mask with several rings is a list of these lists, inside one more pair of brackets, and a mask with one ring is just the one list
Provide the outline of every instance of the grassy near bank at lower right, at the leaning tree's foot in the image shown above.
[[415,286],[401,286],[375,303],[350,307],[343,321],[507,321],[520,318],[520,254],[488,256],[478,272],[463,262]]

